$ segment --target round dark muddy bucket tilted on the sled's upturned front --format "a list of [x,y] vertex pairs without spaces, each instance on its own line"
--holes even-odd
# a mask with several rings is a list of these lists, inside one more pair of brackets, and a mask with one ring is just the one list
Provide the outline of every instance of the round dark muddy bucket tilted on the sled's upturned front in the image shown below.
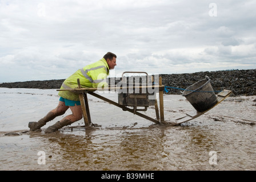
[[190,85],[182,93],[190,104],[199,112],[206,111],[217,104],[217,97],[210,84],[210,78],[205,76],[205,79]]

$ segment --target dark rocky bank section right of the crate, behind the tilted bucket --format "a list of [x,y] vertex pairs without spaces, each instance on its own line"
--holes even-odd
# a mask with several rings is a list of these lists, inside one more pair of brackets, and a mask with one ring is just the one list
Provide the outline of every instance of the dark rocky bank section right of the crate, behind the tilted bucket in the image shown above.
[[[256,69],[197,72],[161,75],[163,85],[186,89],[205,76],[210,78],[214,90],[232,90],[231,96],[256,95]],[[169,89],[167,94],[181,94],[182,90]]]

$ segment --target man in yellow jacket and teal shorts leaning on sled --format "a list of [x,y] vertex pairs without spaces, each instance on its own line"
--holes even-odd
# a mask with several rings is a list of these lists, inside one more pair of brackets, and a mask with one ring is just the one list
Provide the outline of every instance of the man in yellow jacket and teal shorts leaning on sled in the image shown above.
[[[108,86],[106,77],[109,75],[109,70],[114,69],[115,65],[117,65],[116,58],[117,56],[114,53],[107,52],[101,60],[87,65],[82,69],[78,69],[77,72],[68,77],[63,82],[61,89],[78,88],[77,78],[79,78],[82,88],[101,88],[102,86]],[[72,114],[67,115],[61,119],[61,121],[49,126],[45,130],[45,133],[53,133],[63,126],[70,125],[82,119],[83,115],[78,94],[70,91],[59,91],[58,95],[61,96],[58,106],[47,113],[46,116],[38,122],[29,122],[30,131],[41,129],[47,122],[64,114],[69,108]]]

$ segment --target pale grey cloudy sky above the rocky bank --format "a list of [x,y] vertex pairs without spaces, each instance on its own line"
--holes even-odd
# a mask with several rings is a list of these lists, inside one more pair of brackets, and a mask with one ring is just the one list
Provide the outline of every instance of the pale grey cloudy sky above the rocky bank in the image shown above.
[[0,0],[0,82],[256,68],[255,0]]

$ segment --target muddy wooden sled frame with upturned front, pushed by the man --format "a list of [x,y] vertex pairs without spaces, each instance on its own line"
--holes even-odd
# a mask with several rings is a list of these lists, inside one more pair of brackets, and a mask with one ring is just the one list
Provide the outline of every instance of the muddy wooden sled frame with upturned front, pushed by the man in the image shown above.
[[[152,121],[154,123],[157,124],[161,124],[161,123],[168,123],[170,125],[180,125],[181,123],[190,121],[192,119],[195,119],[197,117],[199,117],[202,114],[205,114],[207,111],[213,109],[213,107],[217,106],[219,103],[221,103],[223,100],[225,100],[225,98],[229,97],[230,94],[232,93],[231,90],[222,90],[222,92],[217,94],[217,104],[215,104],[213,107],[211,107],[210,109],[203,111],[203,112],[199,112],[196,110],[190,111],[189,113],[186,113],[185,116],[180,117],[175,119],[175,122],[165,122],[164,119],[164,110],[163,110],[163,90],[165,89],[165,86],[162,85],[162,77],[159,77],[159,85],[151,85],[151,86],[131,86],[131,88],[159,88],[159,105],[160,105],[160,113],[158,111],[158,104],[157,104],[157,100],[155,100],[155,114],[157,119],[151,118],[145,114],[139,113],[138,111],[134,111],[133,109],[130,109],[129,107],[123,106],[118,104],[117,102],[111,101],[106,97],[100,96],[97,93],[94,93],[95,90],[117,90],[117,89],[122,89],[122,88],[129,88],[129,87],[109,87],[109,88],[104,88],[104,89],[97,89],[97,88],[81,88],[80,85],[80,81],[79,79],[78,81],[78,88],[76,89],[58,89],[57,91],[73,91],[73,92],[77,92],[79,94],[79,100],[81,102],[81,107],[82,107],[82,113],[83,113],[83,120],[85,122],[85,126],[79,126],[79,127],[85,127],[85,129],[90,129],[91,127],[93,127],[93,123],[91,122],[91,117],[90,117],[90,110],[89,110],[89,104],[88,104],[88,99],[87,99],[87,93],[97,97],[103,101],[109,102],[110,104],[113,104],[117,107],[122,108],[125,111],[129,111],[130,113],[136,114],[139,117],[148,119],[149,121]],[[160,117],[159,117],[160,115]],[[72,129],[75,127],[72,127]]]

